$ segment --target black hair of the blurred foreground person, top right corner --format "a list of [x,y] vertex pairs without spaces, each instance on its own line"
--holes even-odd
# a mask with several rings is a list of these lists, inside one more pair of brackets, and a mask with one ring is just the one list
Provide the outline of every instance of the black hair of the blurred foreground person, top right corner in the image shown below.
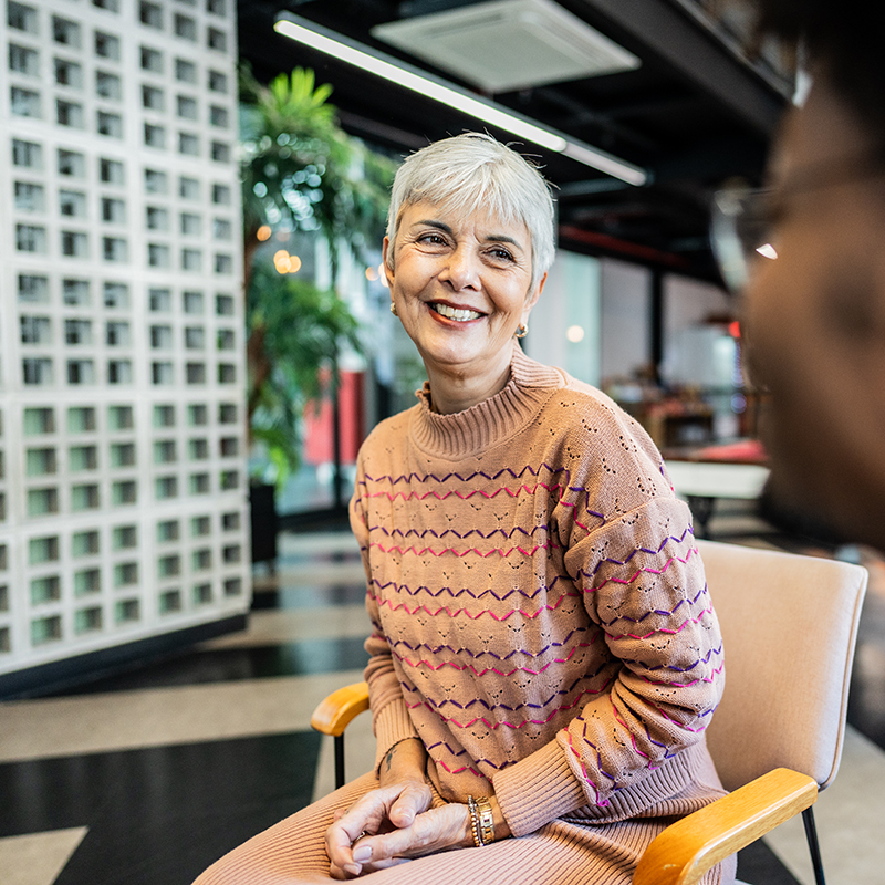
[[761,34],[801,43],[885,158],[882,7],[871,0],[754,0]]

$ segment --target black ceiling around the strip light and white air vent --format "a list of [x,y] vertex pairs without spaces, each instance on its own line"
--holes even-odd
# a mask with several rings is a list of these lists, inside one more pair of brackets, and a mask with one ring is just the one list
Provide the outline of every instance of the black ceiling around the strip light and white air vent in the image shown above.
[[[259,80],[296,65],[334,86],[345,129],[394,154],[481,126],[471,117],[361,72],[272,30],[294,14],[477,91],[467,76],[431,66],[373,37],[376,25],[455,8],[465,0],[242,0],[240,55]],[[558,187],[560,244],[718,280],[707,239],[711,192],[731,177],[758,180],[791,91],[771,46],[750,62],[740,15],[722,0],[559,0],[559,6],[639,60],[620,73],[485,93],[566,137],[642,166],[633,187],[569,157],[524,144]],[[739,10],[740,8],[738,8]],[[718,12],[716,10],[719,10]],[[427,48],[421,46],[424,54]],[[483,126],[503,140],[506,132]]]

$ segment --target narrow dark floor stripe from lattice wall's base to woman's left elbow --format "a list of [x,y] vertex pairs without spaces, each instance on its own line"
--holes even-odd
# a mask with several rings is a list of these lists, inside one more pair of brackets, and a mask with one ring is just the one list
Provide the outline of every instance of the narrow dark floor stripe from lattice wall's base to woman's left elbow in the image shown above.
[[174,657],[95,679],[60,694],[92,695],[100,691],[128,691],[136,688],[167,688],[362,669],[368,662],[364,642],[362,637],[342,637],[249,648],[191,648]]

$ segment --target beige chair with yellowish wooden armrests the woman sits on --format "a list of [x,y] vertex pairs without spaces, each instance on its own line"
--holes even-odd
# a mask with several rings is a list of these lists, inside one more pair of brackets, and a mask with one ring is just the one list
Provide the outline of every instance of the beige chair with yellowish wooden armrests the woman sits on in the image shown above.
[[[818,885],[824,885],[812,804],[839,769],[865,569],[833,560],[698,541],[726,646],[727,688],[707,731],[732,792],[668,826],[634,885],[691,885],[725,857],[802,813]],[[368,709],[365,683],[314,712],[336,736]]]

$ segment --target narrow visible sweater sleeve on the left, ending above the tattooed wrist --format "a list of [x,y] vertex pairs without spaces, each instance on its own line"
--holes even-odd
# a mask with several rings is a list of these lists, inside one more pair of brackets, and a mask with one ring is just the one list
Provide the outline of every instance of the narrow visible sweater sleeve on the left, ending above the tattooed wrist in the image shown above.
[[365,668],[365,680],[368,683],[369,705],[372,709],[372,727],[375,732],[375,767],[395,743],[407,738],[418,737],[408,715],[399,679],[394,671],[393,657],[387,638],[384,635],[378,613],[376,595],[372,592],[372,563],[369,558],[368,525],[366,524],[363,497],[365,476],[362,462],[357,468],[356,490],[351,499],[351,528],[360,542],[363,568],[366,572],[368,592],[366,593],[366,611],[372,622],[372,634],[366,639],[365,648],[369,659]]

